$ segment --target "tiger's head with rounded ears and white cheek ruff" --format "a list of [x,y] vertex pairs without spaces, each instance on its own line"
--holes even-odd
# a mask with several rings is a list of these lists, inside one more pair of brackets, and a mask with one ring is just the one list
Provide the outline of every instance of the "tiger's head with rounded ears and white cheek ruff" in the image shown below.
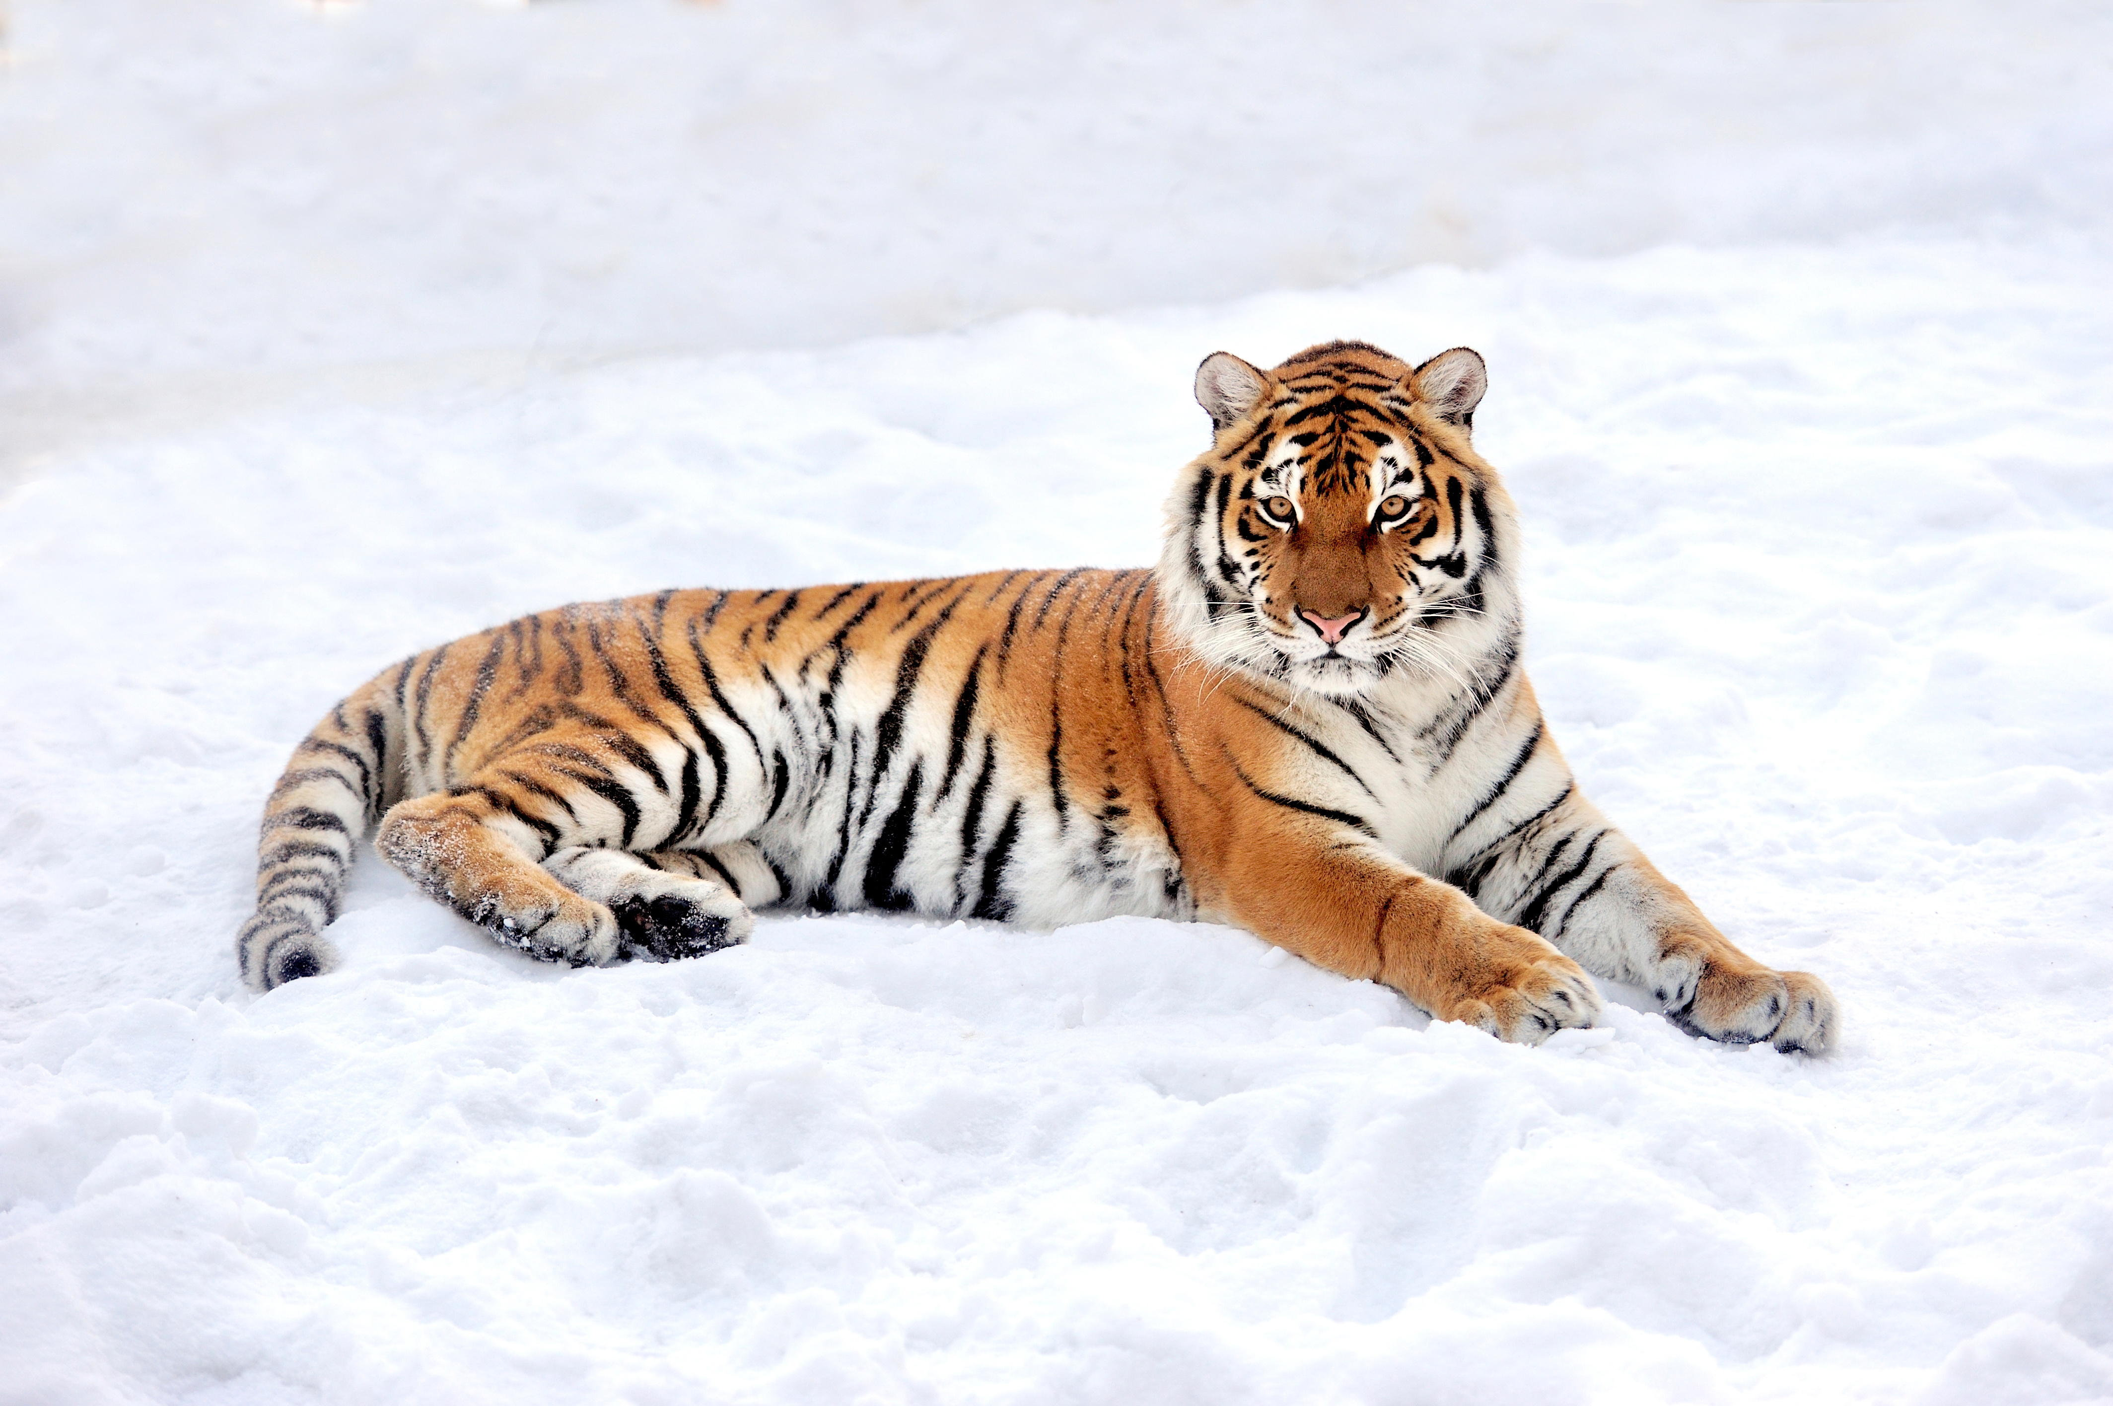
[[1460,679],[1515,636],[1511,497],[1469,442],[1485,385],[1466,347],[1207,357],[1213,444],[1168,499],[1158,567],[1194,653],[1344,696]]

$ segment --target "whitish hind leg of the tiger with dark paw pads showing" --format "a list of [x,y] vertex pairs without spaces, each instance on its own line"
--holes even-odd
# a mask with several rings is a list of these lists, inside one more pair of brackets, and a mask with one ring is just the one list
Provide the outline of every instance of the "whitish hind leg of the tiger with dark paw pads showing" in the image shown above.
[[[778,882],[754,846],[721,848],[748,871],[748,892],[759,899],[778,896]],[[752,867],[744,863],[748,856],[754,856]],[[609,905],[623,930],[623,956],[653,962],[695,958],[748,941],[756,918],[744,903],[735,865],[716,852],[625,854],[596,846],[568,846],[543,861],[543,869],[560,884]]]

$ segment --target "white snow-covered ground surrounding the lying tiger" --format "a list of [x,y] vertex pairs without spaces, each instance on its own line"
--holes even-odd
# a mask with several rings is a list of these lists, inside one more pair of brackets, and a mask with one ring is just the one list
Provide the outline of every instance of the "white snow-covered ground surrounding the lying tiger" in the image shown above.
[[[0,1402],[2113,1400],[2109,23],[1513,15],[17,4]],[[1149,920],[554,970],[370,856],[241,989],[380,664],[1152,560],[1327,336],[1488,357],[1555,736],[1838,1055]]]

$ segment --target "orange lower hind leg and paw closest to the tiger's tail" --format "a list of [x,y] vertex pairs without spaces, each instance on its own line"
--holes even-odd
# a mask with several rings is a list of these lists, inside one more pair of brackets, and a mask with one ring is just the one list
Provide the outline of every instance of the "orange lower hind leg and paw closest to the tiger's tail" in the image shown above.
[[543,962],[606,966],[621,956],[617,915],[541,867],[551,835],[562,831],[503,793],[459,787],[391,808],[374,848],[507,947]]

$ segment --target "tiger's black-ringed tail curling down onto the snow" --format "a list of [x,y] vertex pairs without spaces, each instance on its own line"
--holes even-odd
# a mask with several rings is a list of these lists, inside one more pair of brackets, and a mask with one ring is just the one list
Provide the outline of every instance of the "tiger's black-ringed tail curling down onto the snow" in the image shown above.
[[235,939],[243,981],[258,992],[338,964],[323,928],[338,915],[353,850],[404,799],[404,704],[374,679],[330,710],[294,748],[264,803],[258,911]]

